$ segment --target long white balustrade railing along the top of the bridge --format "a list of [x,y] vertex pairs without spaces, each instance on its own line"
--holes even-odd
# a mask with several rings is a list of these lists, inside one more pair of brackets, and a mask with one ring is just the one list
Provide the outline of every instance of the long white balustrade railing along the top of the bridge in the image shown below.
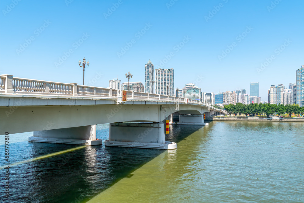
[[[122,99],[122,90],[78,85],[77,83],[50,82],[13,77],[13,75],[0,75],[0,93],[35,94],[51,96],[88,96],[112,99]],[[209,108],[217,109],[208,103],[199,100],[179,98],[175,96],[150,94],[143,92],[126,91],[127,99],[159,100],[195,103]]]

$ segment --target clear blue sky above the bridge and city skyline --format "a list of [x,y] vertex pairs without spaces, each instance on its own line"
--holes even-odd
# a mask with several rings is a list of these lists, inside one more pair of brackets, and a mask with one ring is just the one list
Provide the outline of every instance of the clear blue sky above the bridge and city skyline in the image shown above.
[[174,68],[175,88],[249,93],[259,82],[265,101],[304,65],[303,9],[302,0],[1,0],[0,74],[82,84],[85,57],[85,84],[108,87],[128,71],[144,83],[150,59]]

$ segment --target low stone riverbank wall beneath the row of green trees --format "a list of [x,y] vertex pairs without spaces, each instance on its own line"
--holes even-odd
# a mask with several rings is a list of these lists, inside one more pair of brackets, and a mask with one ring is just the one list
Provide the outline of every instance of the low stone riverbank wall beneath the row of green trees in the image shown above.
[[304,117],[291,118],[259,118],[259,117],[206,117],[206,121],[274,121],[274,122],[304,122]]

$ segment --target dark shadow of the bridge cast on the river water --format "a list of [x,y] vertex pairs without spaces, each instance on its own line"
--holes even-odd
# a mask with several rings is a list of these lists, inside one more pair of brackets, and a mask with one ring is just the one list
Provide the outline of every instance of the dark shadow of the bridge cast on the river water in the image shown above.
[[[180,142],[203,126],[170,126],[166,141]],[[108,136],[109,129],[97,134]],[[106,135],[107,134],[107,135]],[[104,140],[104,138],[103,138]],[[14,162],[79,147],[20,142],[12,144]],[[10,199],[4,202],[85,202],[154,159],[165,150],[84,146],[68,153],[13,166]],[[2,181],[3,182],[3,181]],[[2,183],[1,182],[1,183]]]

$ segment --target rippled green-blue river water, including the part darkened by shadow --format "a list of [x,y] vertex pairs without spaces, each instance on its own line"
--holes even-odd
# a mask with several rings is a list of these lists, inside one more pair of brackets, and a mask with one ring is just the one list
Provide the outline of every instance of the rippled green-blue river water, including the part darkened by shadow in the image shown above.
[[[10,200],[0,200],[303,202],[303,127],[301,122],[213,121],[170,126],[166,140],[178,143],[174,150],[86,146],[13,166]],[[98,125],[97,137],[108,136],[109,124]],[[10,147],[13,163],[76,146],[15,141]]]

